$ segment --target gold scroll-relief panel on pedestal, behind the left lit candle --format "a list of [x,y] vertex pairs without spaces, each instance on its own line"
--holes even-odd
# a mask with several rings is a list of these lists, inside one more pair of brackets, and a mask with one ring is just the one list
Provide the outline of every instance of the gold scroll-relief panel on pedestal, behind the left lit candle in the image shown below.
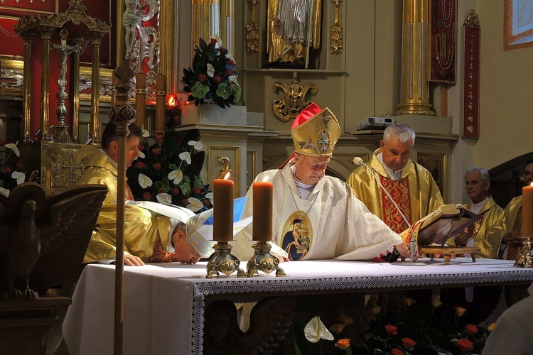
[[[222,159],[222,158],[227,158]],[[225,170],[225,165],[227,162],[230,163],[230,169],[232,174],[230,180],[235,182],[235,187],[233,195],[235,197],[239,196],[239,172],[241,170],[240,166],[240,147],[238,146],[209,146],[208,148],[208,180],[210,187],[212,188],[212,181],[215,180],[223,170]],[[220,161],[224,163],[224,166],[221,165]]]

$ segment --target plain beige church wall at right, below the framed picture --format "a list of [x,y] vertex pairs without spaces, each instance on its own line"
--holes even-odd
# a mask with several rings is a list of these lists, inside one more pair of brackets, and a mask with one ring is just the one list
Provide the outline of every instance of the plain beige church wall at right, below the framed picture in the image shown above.
[[533,48],[504,51],[504,6],[477,1],[481,24],[480,138],[475,163],[487,169],[533,150]]

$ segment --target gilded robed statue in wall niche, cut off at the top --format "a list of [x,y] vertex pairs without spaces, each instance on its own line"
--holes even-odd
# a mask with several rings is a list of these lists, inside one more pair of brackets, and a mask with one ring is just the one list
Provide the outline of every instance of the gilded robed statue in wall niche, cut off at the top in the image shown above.
[[269,0],[269,67],[307,68],[320,48],[322,0]]

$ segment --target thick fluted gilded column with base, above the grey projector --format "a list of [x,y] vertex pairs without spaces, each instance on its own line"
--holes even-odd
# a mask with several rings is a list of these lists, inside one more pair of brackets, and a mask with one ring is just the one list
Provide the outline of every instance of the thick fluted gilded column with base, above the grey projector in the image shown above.
[[396,114],[435,112],[429,104],[429,0],[404,0],[402,27],[402,78]]

